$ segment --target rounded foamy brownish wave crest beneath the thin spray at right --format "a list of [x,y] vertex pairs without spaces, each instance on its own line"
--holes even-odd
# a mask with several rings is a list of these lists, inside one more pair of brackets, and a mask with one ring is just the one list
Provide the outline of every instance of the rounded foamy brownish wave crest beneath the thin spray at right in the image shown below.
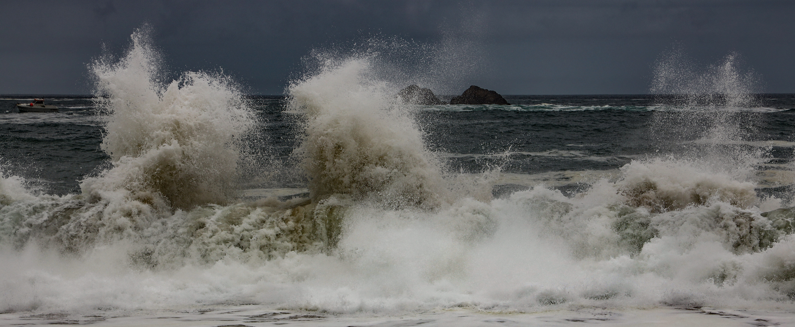
[[676,240],[684,248],[701,240],[733,253],[759,252],[790,233],[762,217],[754,183],[704,162],[634,161],[614,184],[622,196],[615,228],[638,249],[652,238]]

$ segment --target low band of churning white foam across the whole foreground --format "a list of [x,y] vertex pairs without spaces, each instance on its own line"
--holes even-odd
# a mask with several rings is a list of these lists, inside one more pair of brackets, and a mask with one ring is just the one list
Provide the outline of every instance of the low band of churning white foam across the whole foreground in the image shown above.
[[[787,299],[793,242],[774,217],[730,203],[728,195],[742,195],[735,190],[744,183],[697,165],[635,165],[619,181],[603,179],[572,198],[534,187],[491,202],[460,198],[430,212],[385,210],[342,194],[316,204],[270,199],[178,210],[81,256],[61,257],[35,244],[0,253],[4,262],[25,267],[7,271],[10,283],[0,287],[13,296],[0,304],[90,312],[254,302],[350,314],[438,307],[770,309]],[[619,192],[653,181],[670,184],[660,188],[686,202],[700,189],[679,178],[685,174],[723,182],[707,188],[712,195],[704,202],[660,212],[632,206]]]

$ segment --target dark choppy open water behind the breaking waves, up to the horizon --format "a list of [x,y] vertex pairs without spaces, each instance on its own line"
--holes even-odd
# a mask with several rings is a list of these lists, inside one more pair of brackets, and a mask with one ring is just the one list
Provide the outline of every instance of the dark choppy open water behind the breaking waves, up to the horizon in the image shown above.
[[[6,171],[24,176],[46,193],[68,194],[80,190],[80,181],[95,175],[107,164],[107,153],[99,148],[105,117],[95,99],[88,96],[48,98],[60,113],[17,113],[14,104],[32,96],[5,96],[0,106],[3,128],[2,151]],[[739,119],[752,125],[735,145],[763,151],[765,167],[789,163],[792,148],[793,94],[759,94],[764,106],[740,108]],[[479,173],[500,167],[505,173],[527,175],[553,171],[611,171],[631,160],[677,154],[682,148],[703,144],[704,137],[676,125],[656,126],[655,114],[677,112],[676,106],[656,104],[651,95],[508,95],[514,106],[407,106],[409,119],[417,121],[425,146],[440,156],[452,171]],[[293,149],[301,144],[301,116],[285,113],[282,96],[246,96],[257,121],[248,142],[270,168],[279,174],[248,179],[248,188],[301,188],[303,171],[296,167]],[[561,103],[558,105],[549,102]],[[64,105],[64,103],[67,103]],[[544,106],[537,105],[544,103]],[[582,104],[595,106],[582,106]],[[524,106],[529,110],[516,110]],[[662,113],[660,113],[662,112]],[[682,113],[686,116],[686,113]],[[668,129],[660,132],[659,129]],[[669,140],[664,133],[691,134]],[[662,151],[662,152],[661,152]],[[263,163],[258,163],[261,169]],[[781,174],[787,168],[774,169]],[[262,171],[246,171],[262,175]],[[788,184],[786,181],[771,182]],[[783,185],[783,184],[782,184]],[[789,185],[789,184],[788,184]]]

